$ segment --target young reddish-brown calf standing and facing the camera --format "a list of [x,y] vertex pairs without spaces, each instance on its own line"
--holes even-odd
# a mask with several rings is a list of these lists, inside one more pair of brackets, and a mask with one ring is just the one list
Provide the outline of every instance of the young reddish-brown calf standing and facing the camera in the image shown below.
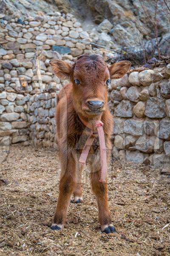
[[[110,79],[120,78],[127,73],[130,62],[119,61],[107,67],[99,55],[81,55],[72,66],[57,59],[52,59],[50,65],[56,76],[70,80],[70,83],[65,85],[57,95],[56,122],[61,177],[57,209],[51,229],[60,230],[66,221],[71,195],[74,194],[75,203],[82,201],[83,166],[79,163],[79,157],[90,134],[90,129],[83,123],[93,125],[101,118],[104,124],[108,162],[113,117],[107,106],[107,87],[110,85]],[[88,154],[91,186],[98,204],[102,232],[110,233],[115,232],[115,229],[111,224],[108,209],[107,183],[99,181],[101,172],[99,158],[99,138],[96,136]]]

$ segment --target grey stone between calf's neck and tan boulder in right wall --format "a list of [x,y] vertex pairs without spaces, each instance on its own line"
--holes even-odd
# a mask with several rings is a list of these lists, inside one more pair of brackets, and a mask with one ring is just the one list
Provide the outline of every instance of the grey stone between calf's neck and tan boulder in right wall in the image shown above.
[[122,102],[116,106],[114,116],[132,117],[132,104],[128,100],[122,100]]

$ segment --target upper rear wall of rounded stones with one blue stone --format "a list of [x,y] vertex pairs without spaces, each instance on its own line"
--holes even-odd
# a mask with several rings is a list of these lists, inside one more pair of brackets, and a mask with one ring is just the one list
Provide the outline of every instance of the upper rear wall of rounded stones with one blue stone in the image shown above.
[[[70,62],[92,52],[89,34],[71,14],[54,12],[26,20],[6,20],[0,15],[0,24],[0,89],[39,90],[40,79],[43,89],[57,88],[60,81],[54,77],[49,60]],[[37,57],[41,78],[37,76]]]

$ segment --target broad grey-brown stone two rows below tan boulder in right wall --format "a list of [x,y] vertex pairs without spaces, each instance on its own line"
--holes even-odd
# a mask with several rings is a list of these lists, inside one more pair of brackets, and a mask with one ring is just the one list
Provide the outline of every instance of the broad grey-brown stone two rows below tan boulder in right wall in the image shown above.
[[154,143],[156,136],[143,135],[136,141],[135,148],[144,153],[154,152]]

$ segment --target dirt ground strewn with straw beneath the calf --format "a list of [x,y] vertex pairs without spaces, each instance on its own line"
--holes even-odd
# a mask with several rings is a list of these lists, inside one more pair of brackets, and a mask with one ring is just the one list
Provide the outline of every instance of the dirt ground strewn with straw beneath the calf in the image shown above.
[[[57,152],[0,148],[0,256],[170,255],[170,173],[111,163],[108,200],[115,234],[101,233],[88,170],[82,204],[70,204],[65,228],[50,230],[58,195]],[[166,171],[166,170],[165,170]]]

